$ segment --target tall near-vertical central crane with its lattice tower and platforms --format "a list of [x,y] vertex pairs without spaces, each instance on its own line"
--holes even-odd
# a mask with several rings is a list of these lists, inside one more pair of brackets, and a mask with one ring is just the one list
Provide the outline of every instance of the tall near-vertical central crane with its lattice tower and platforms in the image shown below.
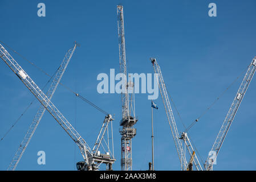
[[125,56],[125,40],[124,40],[124,15],[123,6],[117,6],[117,26],[119,37],[119,64],[120,73],[124,75],[124,85],[121,93],[122,103],[122,119],[120,121],[121,134],[121,170],[132,170],[132,138],[136,135],[136,129],[133,125],[136,124],[135,117],[135,94],[134,85],[130,80],[127,82],[127,60]]

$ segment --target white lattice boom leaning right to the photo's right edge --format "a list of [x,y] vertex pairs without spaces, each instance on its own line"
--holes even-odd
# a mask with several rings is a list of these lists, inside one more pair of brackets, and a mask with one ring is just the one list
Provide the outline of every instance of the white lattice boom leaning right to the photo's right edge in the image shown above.
[[214,152],[213,158],[206,159],[205,162],[205,170],[209,171],[213,169],[213,163],[215,162],[217,155],[220,151],[220,148],[226,138],[227,131],[229,131],[229,128],[231,126],[231,123],[233,122],[233,119],[235,117],[235,114],[237,113],[237,110],[239,108],[239,105],[242,102],[243,97],[245,96],[246,90],[251,82],[251,79],[253,78],[253,75],[256,70],[256,57],[251,61],[251,64],[249,65],[247,72],[245,74],[245,77],[243,78],[243,81],[241,85],[239,86],[237,94],[235,94],[235,98],[230,106],[230,109],[224,119],[224,122],[221,126],[221,129],[217,135],[217,138],[213,144],[212,150]]

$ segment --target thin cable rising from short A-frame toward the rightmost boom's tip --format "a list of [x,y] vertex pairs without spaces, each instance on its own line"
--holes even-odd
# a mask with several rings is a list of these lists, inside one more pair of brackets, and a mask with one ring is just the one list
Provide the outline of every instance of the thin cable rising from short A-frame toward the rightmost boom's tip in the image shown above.
[[193,121],[193,122],[188,126],[188,128],[185,130],[185,133],[187,133],[188,130],[190,130],[190,129],[194,126],[194,124],[196,124],[196,123],[199,121],[199,119],[200,119],[202,116],[204,116],[206,113],[208,113],[208,111],[216,104],[216,102],[217,102],[218,100],[220,100],[220,98],[227,92],[227,90],[229,90],[230,87],[231,87],[232,85],[234,85],[234,83],[238,80],[238,78],[241,77],[241,76],[243,75],[243,73],[246,72],[246,70],[247,70],[247,68],[249,68],[249,66],[250,66],[250,64],[238,75],[238,77],[235,78],[235,80],[234,80],[233,82],[231,82],[231,84],[230,84],[229,86],[227,86],[227,88],[224,90],[224,92],[222,92],[222,93],[216,98],[216,100],[214,100],[214,101],[212,102],[212,104],[210,104],[209,107],[207,107],[207,109],[205,109],[205,110],[202,112],[202,114],[200,114],[199,117],[198,117],[195,121]]

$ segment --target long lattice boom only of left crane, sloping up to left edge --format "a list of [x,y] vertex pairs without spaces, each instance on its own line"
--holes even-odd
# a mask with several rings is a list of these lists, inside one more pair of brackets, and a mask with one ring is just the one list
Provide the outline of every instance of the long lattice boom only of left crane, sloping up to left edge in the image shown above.
[[40,90],[35,82],[27,75],[22,67],[11,57],[6,49],[0,44],[0,56],[1,59],[8,65],[8,67],[17,75],[20,80],[27,86],[32,94],[38,99],[38,101],[46,108],[46,110],[54,117],[64,131],[74,140],[78,145],[84,160],[88,164],[88,167],[92,164],[92,151],[86,143],[86,140],[74,129],[74,127],[67,121],[57,107],[52,104],[50,99]]

